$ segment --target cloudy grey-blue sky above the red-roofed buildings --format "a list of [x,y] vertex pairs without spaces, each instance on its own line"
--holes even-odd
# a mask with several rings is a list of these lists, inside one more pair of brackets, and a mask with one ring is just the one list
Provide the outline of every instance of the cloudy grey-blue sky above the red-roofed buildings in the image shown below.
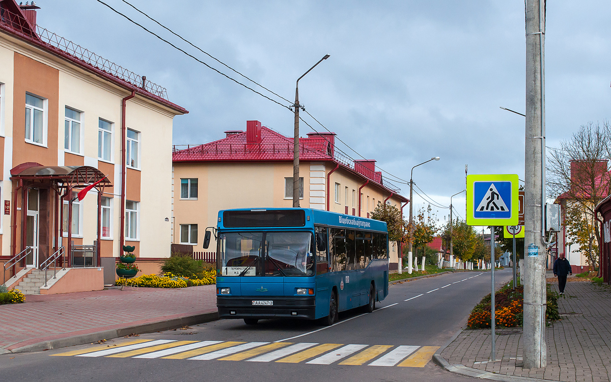
[[[104,0],[194,56],[239,78],[121,0]],[[448,205],[470,174],[524,177],[524,1],[129,0],[222,62],[307,111],[387,178]],[[286,135],[293,114],[180,53],[96,0],[38,0],[38,24],[167,88],[188,109],[174,144],[222,138],[246,120]],[[609,1],[547,4],[547,145],[609,118]],[[287,102],[272,97],[283,105]],[[324,130],[308,116],[316,130]],[[302,126],[302,133],[311,131]],[[399,184],[404,196],[409,185]],[[414,207],[423,205],[414,195]],[[464,194],[453,198],[464,218]],[[439,210],[447,215],[448,210]]]

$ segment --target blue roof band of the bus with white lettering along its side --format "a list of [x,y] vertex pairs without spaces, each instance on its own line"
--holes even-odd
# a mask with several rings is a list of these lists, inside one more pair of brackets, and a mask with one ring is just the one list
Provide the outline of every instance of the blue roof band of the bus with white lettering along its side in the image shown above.
[[[224,221],[224,213],[225,211],[244,211],[244,212],[252,212],[253,215],[260,213],[273,213],[273,211],[304,211],[305,220],[304,224],[299,225],[282,225],[282,226],[235,226],[231,225],[231,227],[225,227]],[[387,232],[386,222],[379,221],[376,219],[368,219],[361,218],[360,216],[352,216],[345,215],[343,213],[331,212],[331,211],[323,211],[316,210],[314,208],[232,208],[230,210],[221,210],[218,215],[218,228],[219,229],[243,229],[243,228],[257,228],[257,229],[267,229],[267,228],[313,228],[315,224],[324,225],[324,226],[332,226],[332,227],[342,227],[349,229],[361,229],[361,230],[371,230],[378,232]]]

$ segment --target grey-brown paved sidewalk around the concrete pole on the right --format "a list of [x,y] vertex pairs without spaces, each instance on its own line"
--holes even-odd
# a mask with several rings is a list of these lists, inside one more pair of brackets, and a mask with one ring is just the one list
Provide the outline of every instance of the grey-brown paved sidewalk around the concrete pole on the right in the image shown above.
[[[558,291],[557,283],[552,284],[553,289]],[[464,330],[441,352],[442,358],[453,370],[467,370],[466,366],[496,373],[478,375],[480,378],[500,380],[501,374],[563,382],[611,381],[611,288],[570,282],[565,293],[558,300],[562,320],[547,328],[547,367],[522,367],[522,328],[497,331],[496,358],[500,361],[489,361],[489,329]]]

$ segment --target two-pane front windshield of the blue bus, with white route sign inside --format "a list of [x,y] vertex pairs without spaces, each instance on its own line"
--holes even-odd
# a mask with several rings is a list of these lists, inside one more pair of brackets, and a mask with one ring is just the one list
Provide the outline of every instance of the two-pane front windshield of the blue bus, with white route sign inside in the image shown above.
[[223,276],[313,276],[310,232],[226,232],[217,241]]

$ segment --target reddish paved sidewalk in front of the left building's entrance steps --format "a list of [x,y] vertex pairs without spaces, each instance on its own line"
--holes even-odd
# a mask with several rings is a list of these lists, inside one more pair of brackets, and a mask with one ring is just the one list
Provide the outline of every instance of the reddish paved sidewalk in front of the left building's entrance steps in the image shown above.
[[215,313],[216,285],[27,295],[23,304],[0,305],[0,353],[35,344],[45,348],[42,343],[53,340],[63,339],[63,346],[86,343],[97,340],[95,333],[163,330]]

